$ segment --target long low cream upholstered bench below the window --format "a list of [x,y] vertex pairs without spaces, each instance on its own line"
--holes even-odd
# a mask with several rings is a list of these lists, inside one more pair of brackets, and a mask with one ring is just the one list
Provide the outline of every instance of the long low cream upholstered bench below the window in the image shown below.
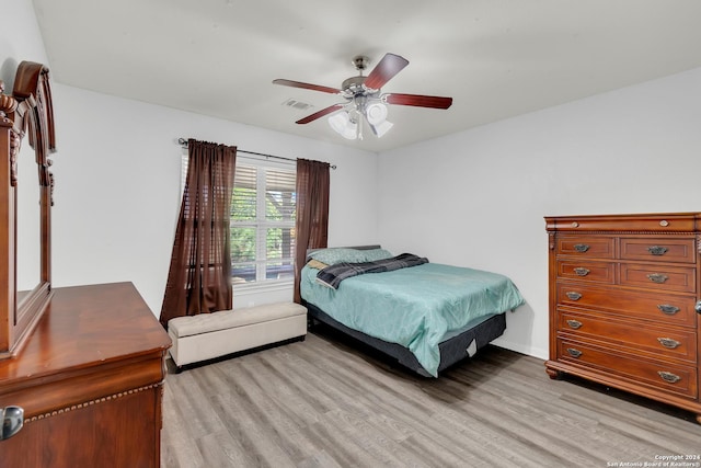
[[168,322],[171,357],[180,368],[307,335],[307,308],[295,303],[177,317]]

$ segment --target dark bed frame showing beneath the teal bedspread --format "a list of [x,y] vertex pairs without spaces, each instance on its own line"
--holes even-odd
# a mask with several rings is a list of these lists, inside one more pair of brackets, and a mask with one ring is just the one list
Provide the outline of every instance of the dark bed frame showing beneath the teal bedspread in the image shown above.
[[[380,248],[380,246],[360,246],[349,247],[348,249],[368,250]],[[307,258],[309,259],[309,254],[315,250],[319,249],[310,249],[307,252]],[[416,359],[416,356],[414,356],[407,347],[397,343],[389,343],[360,331],[350,329],[333,319],[313,304],[309,304],[303,299],[302,305],[307,307],[308,324],[310,329],[313,328],[317,322],[322,322],[332,329],[358,340],[371,349],[397,359],[402,366],[417,373],[418,375],[430,377],[430,374],[424,369]],[[438,372],[440,373],[451,365],[473,356],[478,350],[499,338],[504,333],[504,330],[506,330],[506,313],[497,313],[475,320],[471,327],[461,333],[445,340],[438,345],[438,349],[440,350],[440,365],[438,366]]]

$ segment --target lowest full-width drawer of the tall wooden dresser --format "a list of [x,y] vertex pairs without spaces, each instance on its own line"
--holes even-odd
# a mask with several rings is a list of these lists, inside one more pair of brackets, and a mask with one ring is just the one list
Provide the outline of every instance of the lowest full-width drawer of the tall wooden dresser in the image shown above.
[[623,377],[667,392],[696,398],[697,368],[645,359],[602,347],[558,339],[558,357],[562,362],[597,369],[606,377]]

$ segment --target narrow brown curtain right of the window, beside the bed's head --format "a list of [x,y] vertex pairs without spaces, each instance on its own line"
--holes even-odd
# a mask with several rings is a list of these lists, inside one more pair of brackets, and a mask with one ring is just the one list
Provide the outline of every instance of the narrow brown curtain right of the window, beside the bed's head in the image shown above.
[[327,246],[329,185],[327,162],[297,160],[297,247],[295,251],[295,303],[300,304],[299,283],[307,249]]

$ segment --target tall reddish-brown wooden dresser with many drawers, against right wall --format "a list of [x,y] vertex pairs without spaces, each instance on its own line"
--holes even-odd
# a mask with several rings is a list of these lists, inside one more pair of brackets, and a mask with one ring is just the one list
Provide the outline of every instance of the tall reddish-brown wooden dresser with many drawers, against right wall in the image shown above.
[[701,214],[545,217],[551,378],[576,375],[701,423]]

